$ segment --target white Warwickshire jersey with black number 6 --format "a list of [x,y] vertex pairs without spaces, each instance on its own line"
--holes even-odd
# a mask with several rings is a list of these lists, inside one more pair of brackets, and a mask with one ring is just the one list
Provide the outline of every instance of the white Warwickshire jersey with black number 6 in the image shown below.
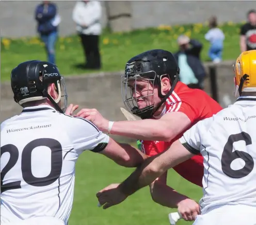
[[212,206],[256,206],[256,97],[201,120],[180,141],[204,158],[202,213]]

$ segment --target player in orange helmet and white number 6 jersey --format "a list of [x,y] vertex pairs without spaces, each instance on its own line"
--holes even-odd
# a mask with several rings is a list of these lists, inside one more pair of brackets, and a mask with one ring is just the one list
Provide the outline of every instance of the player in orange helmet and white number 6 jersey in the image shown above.
[[256,50],[236,60],[233,105],[187,130],[165,152],[147,159],[121,184],[97,193],[104,209],[119,204],[169,168],[204,158],[201,215],[194,225],[254,225],[256,221]]

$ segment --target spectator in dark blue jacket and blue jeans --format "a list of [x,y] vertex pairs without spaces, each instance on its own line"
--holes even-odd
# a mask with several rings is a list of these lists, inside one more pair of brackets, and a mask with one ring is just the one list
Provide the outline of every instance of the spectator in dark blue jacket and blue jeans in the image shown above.
[[37,31],[45,44],[47,60],[55,63],[55,43],[58,36],[58,24],[60,23],[57,7],[50,1],[43,1],[36,7],[35,14],[38,22]]

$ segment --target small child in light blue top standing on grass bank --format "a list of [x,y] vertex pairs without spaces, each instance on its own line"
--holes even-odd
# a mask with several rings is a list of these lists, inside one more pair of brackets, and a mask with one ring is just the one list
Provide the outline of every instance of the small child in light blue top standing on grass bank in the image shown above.
[[217,26],[217,18],[216,16],[212,16],[209,20],[210,30],[204,36],[204,38],[211,43],[209,57],[215,63],[221,61],[223,40],[225,39],[224,33]]

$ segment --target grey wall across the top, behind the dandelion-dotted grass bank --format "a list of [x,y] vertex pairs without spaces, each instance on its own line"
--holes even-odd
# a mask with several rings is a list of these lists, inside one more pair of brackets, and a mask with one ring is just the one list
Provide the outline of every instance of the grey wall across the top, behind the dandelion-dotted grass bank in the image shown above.
[[[72,11],[76,1],[53,2],[56,3],[61,16],[60,36],[76,33],[75,23],[72,20]],[[103,27],[107,24],[107,2],[101,1]],[[34,11],[40,3],[41,1],[0,1],[1,36],[13,38],[37,36]],[[252,1],[229,1],[228,4],[226,1],[129,1],[129,3],[131,21],[127,21],[124,17],[120,22],[131,23],[132,29],[157,27],[162,24],[173,26],[204,23],[212,14],[217,16],[219,23],[228,21],[238,23],[246,20],[247,11],[254,7]],[[123,7],[126,5],[115,7],[116,12],[113,14],[127,13],[127,9]],[[118,22],[113,21],[113,23]]]

